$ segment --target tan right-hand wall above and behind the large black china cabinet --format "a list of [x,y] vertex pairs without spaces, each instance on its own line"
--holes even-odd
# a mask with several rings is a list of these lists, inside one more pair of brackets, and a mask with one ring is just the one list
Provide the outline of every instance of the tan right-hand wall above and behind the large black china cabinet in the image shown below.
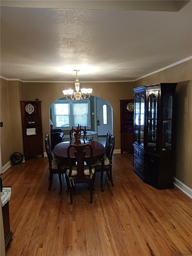
[[140,79],[135,84],[140,86],[161,82],[178,83],[175,177],[192,188],[192,60]]

